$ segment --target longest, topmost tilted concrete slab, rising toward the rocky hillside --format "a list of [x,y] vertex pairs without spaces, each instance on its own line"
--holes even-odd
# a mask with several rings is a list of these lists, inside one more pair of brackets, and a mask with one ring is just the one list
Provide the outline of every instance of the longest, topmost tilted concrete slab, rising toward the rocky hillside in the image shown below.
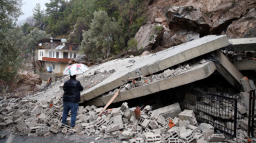
[[[158,53],[145,55],[143,57],[134,57],[135,63],[132,63],[133,65],[131,65],[131,67],[127,67],[127,65],[131,64],[129,63],[131,59],[116,59],[103,63],[98,67],[86,71],[84,76],[92,74],[96,70],[101,72],[109,71],[110,67],[115,72],[106,78],[107,80],[105,79],[90,88],[84,87],[84,91],[81,92],[81,102],[96,98],[101,94],[122,86],[128,82],[128,78],[163,71],[164,69],[168,69],[169,67],[188,61],[189,59],[225,47],[226,45],[229,45],[226,36],[205,36]],[[80,80],[84,81],[86,78],[80,78]]]

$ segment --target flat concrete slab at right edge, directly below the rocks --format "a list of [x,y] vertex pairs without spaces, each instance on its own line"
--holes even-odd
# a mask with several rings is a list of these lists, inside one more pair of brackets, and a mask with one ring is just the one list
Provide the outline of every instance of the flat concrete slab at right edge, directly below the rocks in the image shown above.
[[256,38],[241,38],[228,40],[234,51],[255,51]]

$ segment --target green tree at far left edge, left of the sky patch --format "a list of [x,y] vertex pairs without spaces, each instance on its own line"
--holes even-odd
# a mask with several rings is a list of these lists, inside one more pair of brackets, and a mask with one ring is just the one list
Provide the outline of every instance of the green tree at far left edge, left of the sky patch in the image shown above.
[[22,11],[22,0],[0,1],[0,80],[11,82],[22,62],[23,33],[12,28]]

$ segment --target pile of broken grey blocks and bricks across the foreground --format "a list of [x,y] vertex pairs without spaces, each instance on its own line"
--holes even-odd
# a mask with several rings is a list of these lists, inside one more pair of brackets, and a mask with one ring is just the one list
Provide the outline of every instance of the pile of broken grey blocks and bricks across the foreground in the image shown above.
[[[224,142],[224,134],[207,123],[197,123],[193,110],[181,112],[179,103],[152,110],[129,108],[124,102],[121,107],[107,109],[101,115],[102,107],[79,106],[75,129],[71,129],[71,114],[67,124],[61,123],[63,112],[62,94],[55,98],[37,102],[30,99],[9,99],[1,101],[0,127],[11,127],[13,134],[50,136],[51,134],[94,134],[99,138],[118,137],[123,142]],[[247,120],[240,120],[241,128],[247,129]],[[228,140],[246,141],[246,132],[238,130],[238,138]]]

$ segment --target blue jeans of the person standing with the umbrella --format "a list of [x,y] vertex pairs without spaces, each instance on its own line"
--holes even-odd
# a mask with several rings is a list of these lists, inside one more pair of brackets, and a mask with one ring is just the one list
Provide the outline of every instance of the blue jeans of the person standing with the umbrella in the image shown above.
[[66,124],[67,122],[67,114],[71,110],[71,127],[75,127],[77,121],[77,109],[79,108],[79,103],[72,102],[63,102],[63,115],[62,115],[62,123]]

